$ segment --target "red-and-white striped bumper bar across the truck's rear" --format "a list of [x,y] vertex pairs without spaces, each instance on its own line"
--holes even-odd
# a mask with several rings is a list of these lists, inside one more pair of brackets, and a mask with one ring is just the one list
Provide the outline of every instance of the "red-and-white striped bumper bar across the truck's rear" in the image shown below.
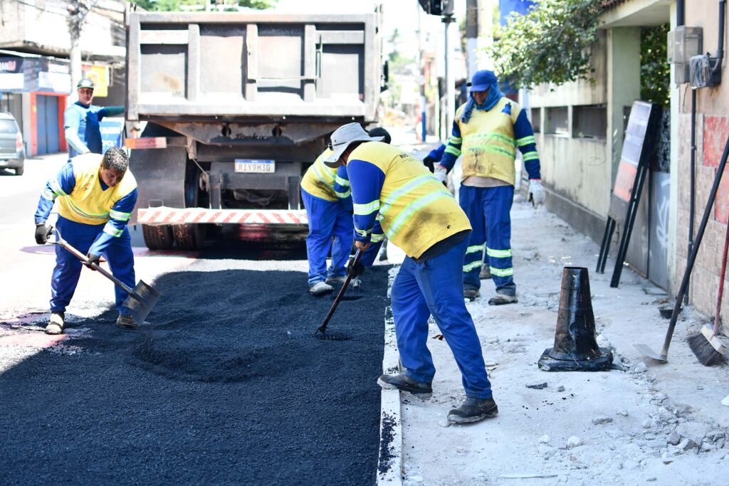
[[288,209],[207,209],[207,208],[147,208],[139,209],[141,224],[308,224],[306,211]]

